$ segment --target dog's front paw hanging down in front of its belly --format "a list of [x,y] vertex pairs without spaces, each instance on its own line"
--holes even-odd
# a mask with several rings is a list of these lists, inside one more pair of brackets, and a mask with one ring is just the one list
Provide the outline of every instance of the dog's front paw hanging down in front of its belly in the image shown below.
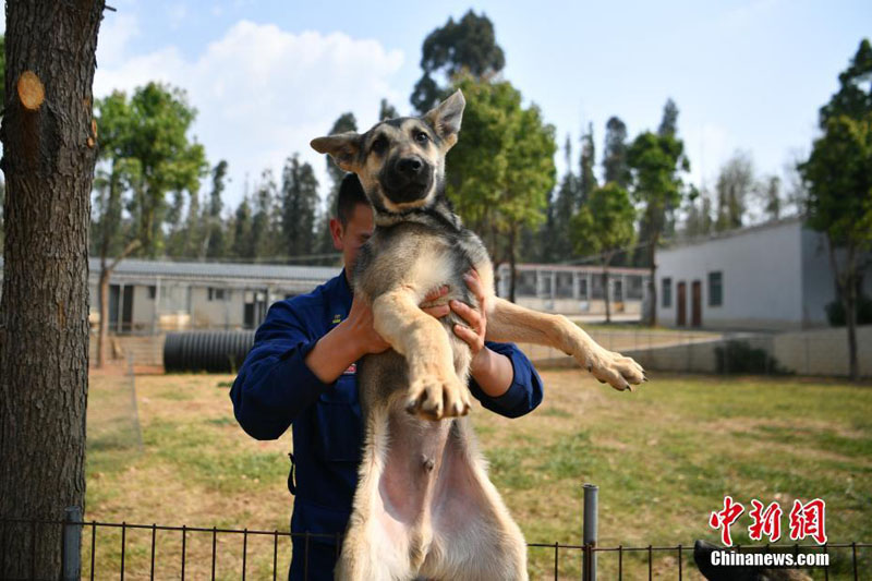
[[426,420],[467,415],[470,411],[470,390],[460,383],[453,370],[440,373],[428,370],[412,376],[405,411]]

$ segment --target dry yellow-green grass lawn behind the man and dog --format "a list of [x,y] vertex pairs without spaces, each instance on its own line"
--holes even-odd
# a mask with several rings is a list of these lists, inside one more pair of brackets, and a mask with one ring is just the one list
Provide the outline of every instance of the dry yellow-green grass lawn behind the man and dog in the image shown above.
[[[831,542],[872,541],[872,386],[655,375],[622,394],[577,371],[542,375],[545,401],[529,416],[472,412],[492,479],[529,542],[581,543],[584,482],[600,486],[601,546],[716,542],[708,515],[727,494],[747,508],[752,498],[777,500],[785,533],[792,500],[820,497]],[[231,379],[137,377],[140,436],[129,379],[93,377],[86,520],[287,531],[290,434],[277,441],[246,436],[232,415]],[[735,542],[749,542],[749,522],[746,513],[734,525]],[[179,577],[181,536],[157,533],[157,578]],[[211,534],[186,535],[186,577],[208,578],[211,542]],[[126,532],[128,579],[147,578],[150,543],[150,531]],[[271,578],[272,543],[249,537],[247,578]],[[242,545],[241,535],[217,536],[218,579],[241,579]],[[120,531],[99,529],[97,578],[118,574],[120,552]],[[872,570],[872,550],[858,555],[861,571]],[[289,556],[281,540],[279,579]],[[831,579],[849,578],[849,556],[831,557]],[[531,548],[533,579],[552,576],[553,564],[553,548]],[[616,565],[616,556],[601,555],[601,578],[614,578]],[[677,555],[655,553],[656,578],[677,578]],[[692,568],[686,554],[685,573]],[[623,570],[626,579],[646,578],[646,555],[625,554]],[[579,553],[561,552],[560,578],[579,571]]]

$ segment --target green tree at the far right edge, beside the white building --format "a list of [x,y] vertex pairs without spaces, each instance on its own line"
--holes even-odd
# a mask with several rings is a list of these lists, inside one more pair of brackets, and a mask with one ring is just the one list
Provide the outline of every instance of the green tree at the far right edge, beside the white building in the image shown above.
[[[860,254],[872,247],[872,47],[863,39],[839,89],[821,108],[823,135],[799,167],[808,184],[808,223],[824,232],[837,300],[845,310],[850,377],[859,376],[857,303]],[[841,261],[837,253],[841,251]],[[839,264],[840,263],[840,264]]]

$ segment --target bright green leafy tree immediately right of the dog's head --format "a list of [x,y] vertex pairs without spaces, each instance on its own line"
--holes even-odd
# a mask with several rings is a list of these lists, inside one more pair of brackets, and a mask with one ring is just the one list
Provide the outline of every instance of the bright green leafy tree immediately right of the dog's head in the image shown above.
[[510,263],[513,300],[519,234],[524,225],[543,220],[554,187],[554,128],[536,106],[522,108],[520,92],[506,81],[463,75],[457,85],[467,109],[460,140],[446,160],[447,192],[495,263]]

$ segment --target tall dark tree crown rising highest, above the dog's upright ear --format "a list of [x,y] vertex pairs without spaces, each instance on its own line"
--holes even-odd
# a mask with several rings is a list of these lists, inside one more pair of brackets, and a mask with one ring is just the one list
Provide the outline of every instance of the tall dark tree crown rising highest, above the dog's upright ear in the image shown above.
[[506,65],[506,57],[497,45],[494,24],[485,14],[472,10],[460,21],[449,17],[424,39],[421,49],[424,74],[412,90],[412,106],[425,113],[451,92],[450,85],[439,86],[434,75],[441,73],[447,81],[461,72],[473,78],[489,78]]

